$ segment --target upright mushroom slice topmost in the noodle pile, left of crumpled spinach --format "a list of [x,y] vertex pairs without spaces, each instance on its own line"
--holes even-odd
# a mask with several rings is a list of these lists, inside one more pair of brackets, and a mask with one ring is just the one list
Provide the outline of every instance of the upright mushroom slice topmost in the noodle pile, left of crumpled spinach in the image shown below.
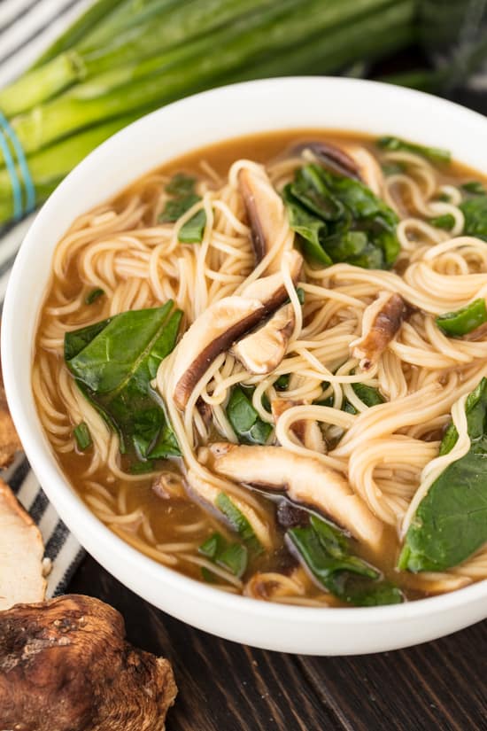
[[[275,237],[284,222],[284,204],[274,191],[265,169],[243,167],[238,173],[238,187],[251,225],[251,240],[256,262],[262,261],[274,245]],[[279,268],[278,257],[270,262],[267,271]]]

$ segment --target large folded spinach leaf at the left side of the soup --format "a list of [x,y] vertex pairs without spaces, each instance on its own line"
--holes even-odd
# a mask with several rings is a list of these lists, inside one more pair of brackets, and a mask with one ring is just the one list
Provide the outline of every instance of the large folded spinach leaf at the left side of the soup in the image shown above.
[[77,385],[119,434],[120,452],[135,462],[180,454],[164,403],[151,388],[179,331],[182,312],[173,309],[169,301],[132,310],[65,336]]

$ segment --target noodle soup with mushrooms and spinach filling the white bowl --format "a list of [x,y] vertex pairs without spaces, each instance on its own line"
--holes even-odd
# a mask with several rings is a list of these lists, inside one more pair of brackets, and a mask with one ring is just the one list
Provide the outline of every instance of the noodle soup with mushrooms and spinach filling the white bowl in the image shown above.
[[262,600],[487,577],[483,185],[444,151],[293,130],[192,152],[82,215],[33,388],[89,508]]

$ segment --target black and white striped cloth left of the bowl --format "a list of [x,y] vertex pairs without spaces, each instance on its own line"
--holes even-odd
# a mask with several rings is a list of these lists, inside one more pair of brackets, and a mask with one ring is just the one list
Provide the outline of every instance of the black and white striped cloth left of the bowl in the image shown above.
[[[0,87],[30,66],[91,0],[0,0]],[[35,214],[0,237],[0,303],[22,238]],[[24,455],[2,475],[43,535],[51,570],[47,595],[61,594],[81,562],[83,550],[59,520]]]

